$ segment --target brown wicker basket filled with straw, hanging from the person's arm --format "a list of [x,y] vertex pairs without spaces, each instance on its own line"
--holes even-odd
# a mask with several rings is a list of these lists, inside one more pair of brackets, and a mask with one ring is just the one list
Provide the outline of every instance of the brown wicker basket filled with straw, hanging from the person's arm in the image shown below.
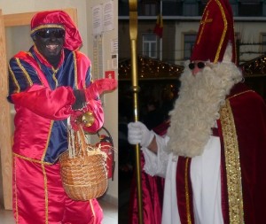
[[86,201],[107,189],[106,153],[85,141],[82,127],[69,131],[69,148],[60,158],[60,174],[68,197]]

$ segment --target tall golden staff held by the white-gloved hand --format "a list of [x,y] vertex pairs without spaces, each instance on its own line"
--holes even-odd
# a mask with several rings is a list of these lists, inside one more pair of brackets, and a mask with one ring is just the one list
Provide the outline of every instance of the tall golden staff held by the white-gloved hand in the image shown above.
[[[138,83],[137,83],[137,0],[129,0],[129,36],[131,46],[131,81],[134,103],[134,120],[138,120]],[[141,189],[141,168],[140,149],[136,144],[136,177],[137,177],[137,208],[138,223],[143,223],[142,189]]]

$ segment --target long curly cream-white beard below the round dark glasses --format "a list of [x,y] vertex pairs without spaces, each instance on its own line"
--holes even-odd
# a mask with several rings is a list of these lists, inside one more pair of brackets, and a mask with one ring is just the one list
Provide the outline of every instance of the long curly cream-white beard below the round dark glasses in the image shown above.
[[219,119],[219,110],[232,86],[242,80],[239,68],[231,62],[209,63],[192,75],[186,62],[179,97],[169,112],[168,152],[184,157],[200,156]]

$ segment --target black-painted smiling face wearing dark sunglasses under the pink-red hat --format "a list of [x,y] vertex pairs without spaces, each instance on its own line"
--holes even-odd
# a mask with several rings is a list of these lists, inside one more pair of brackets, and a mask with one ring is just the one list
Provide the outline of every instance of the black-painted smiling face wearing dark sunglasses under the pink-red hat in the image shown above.
[[[52,66],[59,62],[60,52],[65,42],[65,30],[59,28],[45,28],[37,31],[33,38],[37,50]],[[56,63],[58,64],[58,63]]]

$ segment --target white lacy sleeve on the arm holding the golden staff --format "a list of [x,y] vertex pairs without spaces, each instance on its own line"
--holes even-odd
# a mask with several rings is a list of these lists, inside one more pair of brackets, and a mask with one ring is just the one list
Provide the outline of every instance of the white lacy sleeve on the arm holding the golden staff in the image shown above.
[[160,177],[165,177],[168,166],[168,153],[166,152],[166,147],[169,137],[161,137],[160,135],[155,136],[158,146],[157,154],[153,153],[153,151],[150,151],[145,147],[142,148],[145,156],[144,170],[145,173],[152,176],[157,175]]

